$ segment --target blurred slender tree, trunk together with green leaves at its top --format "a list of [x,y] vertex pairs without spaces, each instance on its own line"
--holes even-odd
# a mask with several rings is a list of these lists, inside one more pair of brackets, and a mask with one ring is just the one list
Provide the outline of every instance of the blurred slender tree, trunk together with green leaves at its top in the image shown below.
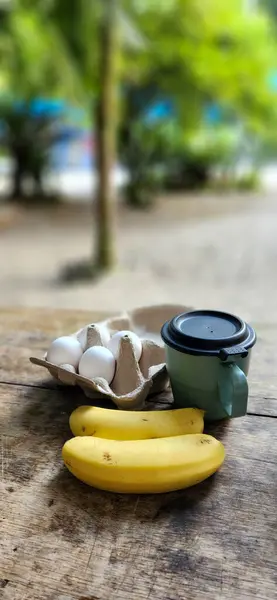
[[[42,2],[45,10],[45,4]],[[95,201],[95,266],[109,269],[115,261],[115,193],[112,171],[116,163],[116,139],[121,71],[120,48],[140,48],[142,40],[121,0],[49,0],[46,12],[56,24],[93,107],[98,165]]]

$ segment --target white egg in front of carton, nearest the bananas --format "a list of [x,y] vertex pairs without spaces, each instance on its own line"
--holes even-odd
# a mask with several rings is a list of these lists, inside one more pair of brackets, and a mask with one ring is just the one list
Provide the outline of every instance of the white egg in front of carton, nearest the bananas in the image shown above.
[[114,378],[115,359],[113,354],[103,346],[92,346],[84,352],[80,363],[79,373],[88,379],[103,377],[108,383]]

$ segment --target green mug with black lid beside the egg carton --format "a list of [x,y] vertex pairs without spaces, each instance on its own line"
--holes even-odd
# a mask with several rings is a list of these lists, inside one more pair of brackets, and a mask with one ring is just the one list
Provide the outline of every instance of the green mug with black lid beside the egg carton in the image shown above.
[[214,310],[177,315],[161,330],[176,407],[198,407],[207,421],[247,412],[254,329],[239,317]]

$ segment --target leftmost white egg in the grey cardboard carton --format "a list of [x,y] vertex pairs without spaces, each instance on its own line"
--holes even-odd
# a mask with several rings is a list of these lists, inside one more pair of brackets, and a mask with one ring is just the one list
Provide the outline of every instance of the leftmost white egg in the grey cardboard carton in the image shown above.
[[76,369],[82,353],[80,342],[72,336],[64,335],[52,342],[47,352],[47,360],[54,365],[69,364]]

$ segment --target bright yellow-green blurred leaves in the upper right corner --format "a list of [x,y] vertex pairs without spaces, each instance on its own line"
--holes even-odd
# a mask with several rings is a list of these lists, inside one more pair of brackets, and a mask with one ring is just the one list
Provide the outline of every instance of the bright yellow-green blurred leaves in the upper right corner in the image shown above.
[[241,0],[144,7],[135,18],[147,44],[133,67],[129,57],[126,77],[158,83],[178,101],[185,127],[199,123],[203,100],[210,99],[256,130],[276,119],[276,94],[267,81],[276,67],[276,39],[266,14],[246,12]]

